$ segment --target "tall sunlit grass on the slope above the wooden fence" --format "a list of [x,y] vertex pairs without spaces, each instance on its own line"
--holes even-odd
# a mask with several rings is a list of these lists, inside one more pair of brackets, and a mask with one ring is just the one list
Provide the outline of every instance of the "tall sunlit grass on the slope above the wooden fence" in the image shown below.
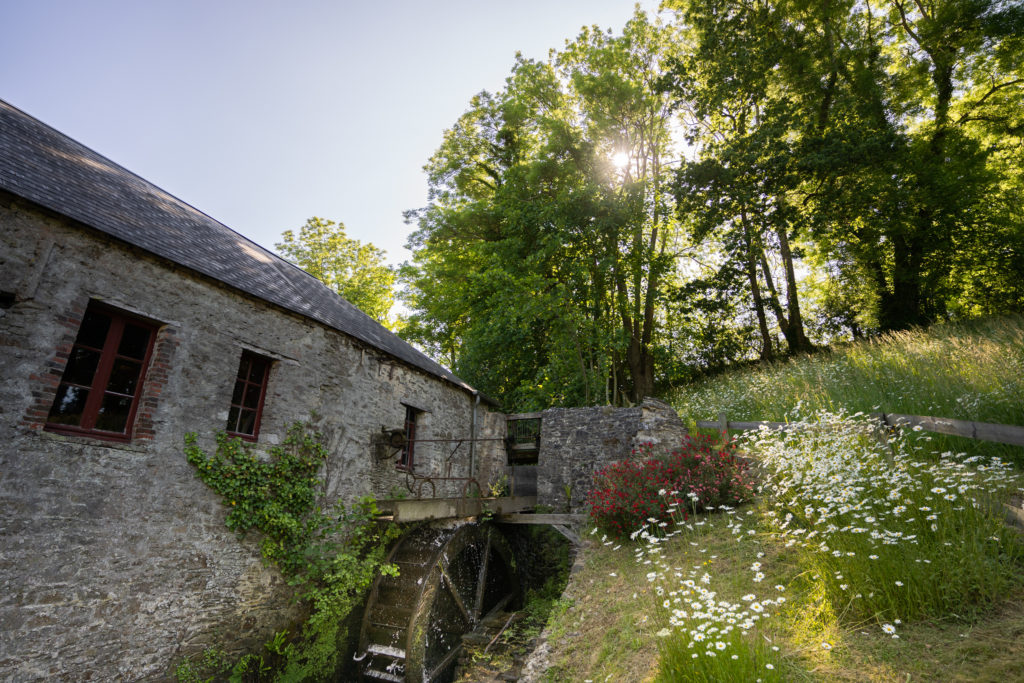
[[[1024,317],[937,325],[737,370],[680,389],[685,418],[781,421],[846,411],[1024,425]],[[1024,449],[936,436],[935,449],[1024,464]]]

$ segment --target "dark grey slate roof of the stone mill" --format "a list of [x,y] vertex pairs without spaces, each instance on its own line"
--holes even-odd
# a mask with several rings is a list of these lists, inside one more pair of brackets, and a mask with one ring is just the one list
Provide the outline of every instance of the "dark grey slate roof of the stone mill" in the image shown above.
[[304,270],[2,99],[0,188],[473,390]]

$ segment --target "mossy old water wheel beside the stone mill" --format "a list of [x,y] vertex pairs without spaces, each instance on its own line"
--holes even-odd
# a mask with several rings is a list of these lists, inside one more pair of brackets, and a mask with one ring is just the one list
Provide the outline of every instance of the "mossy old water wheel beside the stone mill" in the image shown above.
[[378,577],[359,633],[364,680],[450,681],[462,636],[518,596],[515,561],[489,524],[424,526],[398,540]]

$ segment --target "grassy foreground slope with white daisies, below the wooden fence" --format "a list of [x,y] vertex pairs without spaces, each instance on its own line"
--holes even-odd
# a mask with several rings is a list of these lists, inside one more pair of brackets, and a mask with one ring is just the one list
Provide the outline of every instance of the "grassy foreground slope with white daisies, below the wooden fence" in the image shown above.
[[750,441],[756,504],[593,543],[547,680],[1019,679],[1024,539],[991,505],[1019,476],[819,417]]

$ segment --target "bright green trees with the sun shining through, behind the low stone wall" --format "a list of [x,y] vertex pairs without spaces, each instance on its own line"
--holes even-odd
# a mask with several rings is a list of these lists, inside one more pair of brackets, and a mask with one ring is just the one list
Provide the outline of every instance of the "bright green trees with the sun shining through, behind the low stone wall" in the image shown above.
[[679,247],[654,87],[673,36],[638,12],[621,36],[586,29],[547,62],[518,58],[427,165],[401,333],[511,410],[653,390]]

